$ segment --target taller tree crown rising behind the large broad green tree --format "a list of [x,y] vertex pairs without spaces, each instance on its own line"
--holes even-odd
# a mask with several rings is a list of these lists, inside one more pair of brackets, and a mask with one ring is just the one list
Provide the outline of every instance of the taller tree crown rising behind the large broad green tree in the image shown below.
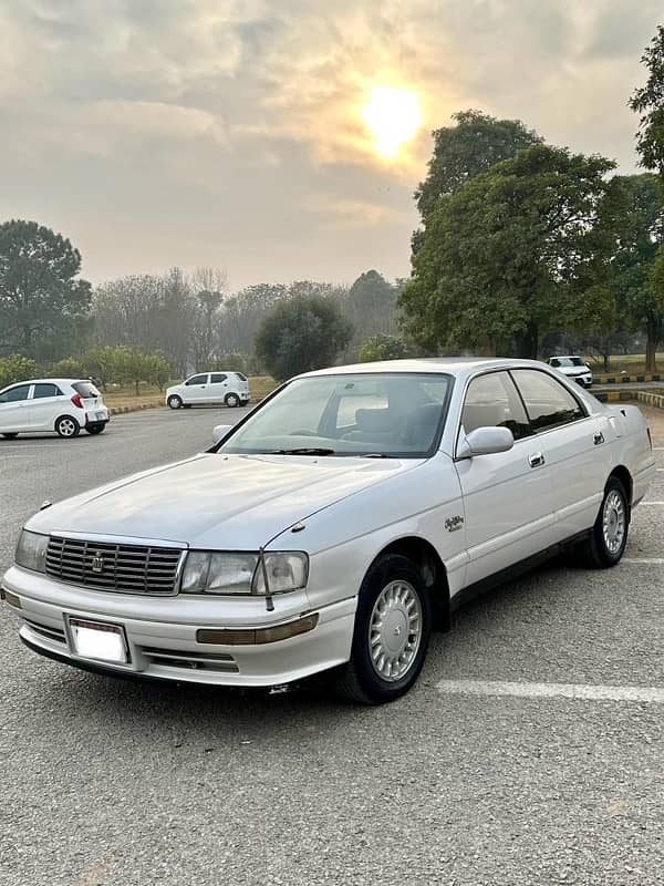
[[434,153],[428,174],[415,192],[423,220],[435,209],[438,199],[456,194],[476,175],[496,163],[510,159],[542,138],[527,130],[520,120],[497,120],[481,111],[459,111],[452,115],[455,126],[435,130]]

